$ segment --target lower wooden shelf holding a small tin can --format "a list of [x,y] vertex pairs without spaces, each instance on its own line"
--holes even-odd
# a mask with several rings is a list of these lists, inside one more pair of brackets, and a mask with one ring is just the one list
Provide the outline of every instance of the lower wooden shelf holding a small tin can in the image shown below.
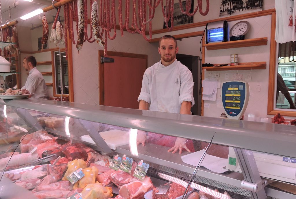
[[[220,64],[215,64],[220,65]],[[230,64],[229,64],[230,65]],[[234,66],[210,66],[210,67],[202,67],[207,71],[217,71],[217,70],[258,70],[258,69],[266,69],[266,62],[247,62],[247,63],[239,63],[239,65]]]

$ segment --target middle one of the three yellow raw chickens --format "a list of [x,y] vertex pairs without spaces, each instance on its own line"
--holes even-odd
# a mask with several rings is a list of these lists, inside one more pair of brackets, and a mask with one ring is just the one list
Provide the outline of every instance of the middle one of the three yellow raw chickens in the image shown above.
[[82,170],[84,177],[81,178],[77,183],[75,183],[73,189],[76,188],[85,188],[88,184],[96,183],[96,176],[99,173],[99,170],[96,167],[87,167]]

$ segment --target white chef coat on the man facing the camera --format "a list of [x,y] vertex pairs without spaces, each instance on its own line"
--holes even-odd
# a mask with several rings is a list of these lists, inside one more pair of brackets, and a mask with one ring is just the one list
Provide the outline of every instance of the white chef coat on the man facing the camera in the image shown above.
[[193,85],[191,71],[179,61],[168,66],[157,62],[144,73],[138,101],[148,102],[150,111],[180,113],[183,101],[194,105]]

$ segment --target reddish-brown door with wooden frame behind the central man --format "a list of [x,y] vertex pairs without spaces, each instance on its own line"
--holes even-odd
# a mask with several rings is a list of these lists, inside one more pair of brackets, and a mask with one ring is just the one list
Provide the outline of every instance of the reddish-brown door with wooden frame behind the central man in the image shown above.
[[147,55],[108,51],[114,63],[102,64],[101,56],[99,50],[99,105],[138,109]]

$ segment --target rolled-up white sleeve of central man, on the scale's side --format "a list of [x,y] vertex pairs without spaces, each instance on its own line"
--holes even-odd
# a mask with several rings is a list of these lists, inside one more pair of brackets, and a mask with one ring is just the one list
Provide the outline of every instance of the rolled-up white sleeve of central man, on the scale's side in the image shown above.
[[181,85],[180,85],[180,96],[179,96],[179,102],[180,104],[184,101],[191,102],[191,106],[194,105],[194,98],[193,98],[193,79],[192,79],[192,73],[190,70],[187,70],[184,72],[184,75],[181,75],[180,79]]

